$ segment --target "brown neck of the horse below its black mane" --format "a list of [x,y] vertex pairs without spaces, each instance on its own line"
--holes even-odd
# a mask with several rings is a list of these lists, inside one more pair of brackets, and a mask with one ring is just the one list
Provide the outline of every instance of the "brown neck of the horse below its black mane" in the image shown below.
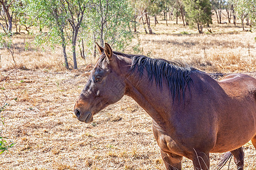
[[[129,63],[126,65],[130,66],[131,59],[127,61]],[[142,76],[139,76],[136,71],[132,74],[126,74],[125,94],[132,97],[153,118],[156,124],[163,125],[165,120],[170,119],[170,114],[167,111],[170,111],[172,107],[172,97],[166,84],[163,84],[163,89],[160,90],[155,81],[148,82],[146,70],[144,71],[145,74]]]

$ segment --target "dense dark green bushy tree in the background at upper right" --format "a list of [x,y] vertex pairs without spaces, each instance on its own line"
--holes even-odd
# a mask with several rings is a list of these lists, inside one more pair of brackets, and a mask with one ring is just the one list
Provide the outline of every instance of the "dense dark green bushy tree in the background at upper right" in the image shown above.
[[191,24],[196,24],[199,33],[203,33],[205,24],[212,19],[212,12],[209,0],[184,0],[185,11]]

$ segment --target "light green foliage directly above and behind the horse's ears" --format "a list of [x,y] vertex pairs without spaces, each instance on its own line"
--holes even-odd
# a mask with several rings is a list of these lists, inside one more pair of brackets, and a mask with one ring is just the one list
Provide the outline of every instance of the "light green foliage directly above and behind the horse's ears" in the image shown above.
[[133,10],[128,1],[90,0],[87,16],[81,25],[81,37],[91,50],[99,41],[102,46],[105,41],[114,49],[123,49],[133,37],[130,29],[132,19]]

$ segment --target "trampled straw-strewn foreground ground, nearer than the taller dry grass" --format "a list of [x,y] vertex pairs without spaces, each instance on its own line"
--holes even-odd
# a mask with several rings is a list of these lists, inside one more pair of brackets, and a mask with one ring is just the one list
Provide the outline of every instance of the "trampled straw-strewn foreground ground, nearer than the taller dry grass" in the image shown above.
[[[151,118],[130,97],[91,124],[75,118],[87,71],[16,70],[2,82],[1,97],[8,96],[9,104],[2,133],[16,144],[0,155],[1,169],[164,169]],[[247,143],[245,169],[256,169],[255,154]],[[221,155],[211,155],[212,167]],[[192,169],[191,161],[184,159],[183,168]]]

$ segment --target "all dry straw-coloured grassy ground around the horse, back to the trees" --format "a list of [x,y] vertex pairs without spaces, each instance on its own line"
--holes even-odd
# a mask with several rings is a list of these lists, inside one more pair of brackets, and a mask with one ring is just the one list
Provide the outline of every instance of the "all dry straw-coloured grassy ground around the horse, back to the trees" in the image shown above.
[[[174,22],[167,27],[164,21],[152,29],[156,34],[141,31],[125,52],[178,59],[208,73],[249,72],[256,77],[255,32],[213,24],[213,34],[199,35],[196,29]],[[164,169],[151,118],[133,99],[123,97],[94,116],[91,124],[79,122],[73,105],[91,68],[86,69],[79,58],[79,70],[64,70],[61,49],[42,51],[28,35],[16,36],[14,43],[20,69],[13,69],[6,50],[0,51],[0,78],[10,73],[0,82],[0,104],[5,96],[9,104],[3,112],[2,135],[15,142],[9,152],[0,155],[0,169]],[[141,46],[134,52],[137,43]],[[86,65],[91,62],[94,59],[88,58]],[[221,155],[211,154],[212,167]],[[256,169],[255,155],[247,143],[246,170]],[[183,168],[192,169],[191,161],[184,159]],[[230,169],[235,169],[233,160]]]

